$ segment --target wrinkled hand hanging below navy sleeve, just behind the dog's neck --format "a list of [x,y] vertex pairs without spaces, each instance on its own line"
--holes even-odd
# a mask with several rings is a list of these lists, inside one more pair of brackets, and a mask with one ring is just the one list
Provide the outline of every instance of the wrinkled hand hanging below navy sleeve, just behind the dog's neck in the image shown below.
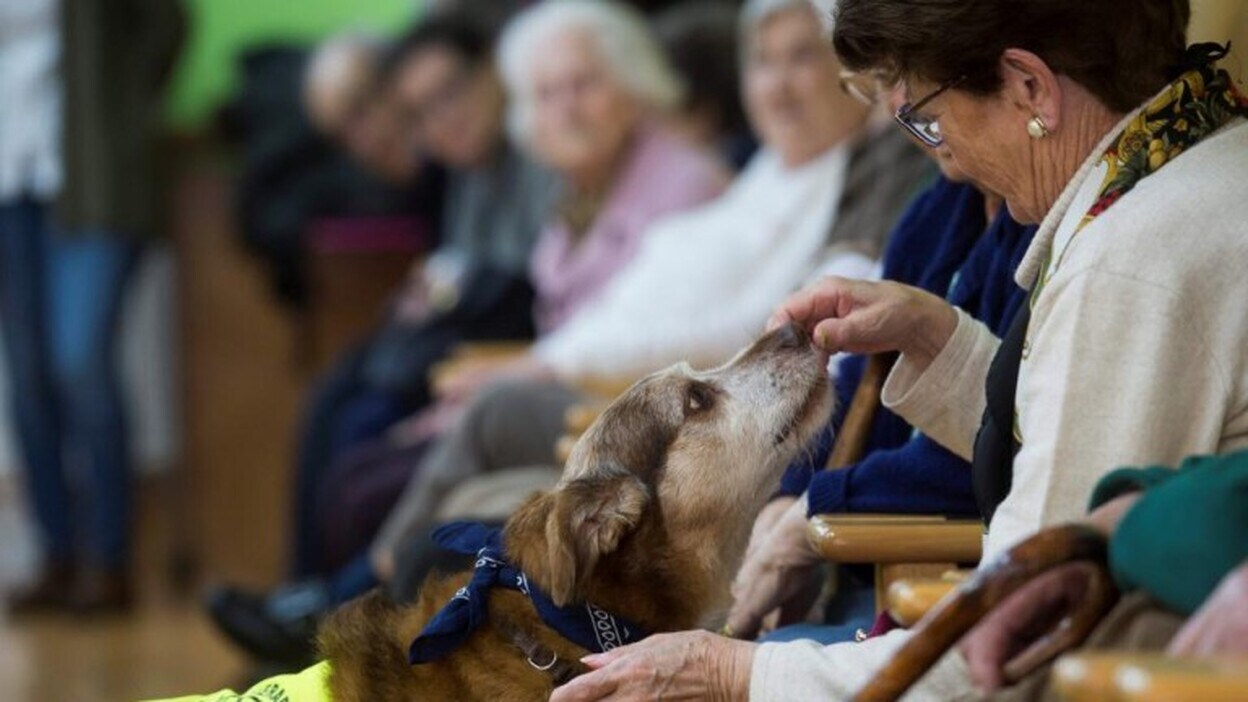
[[[795,603],[806,592],[820,562],[820,556],[806,541],[806,500],[794,500],[761,545],[746,555],[733,583],[728,630],[738,638],[754,638],[764,618],[778,608]],[[810,603],[805,603],[809,607]],[[785,608],[781,620],[800,618],[805,615],[804,610],[795,603]]]

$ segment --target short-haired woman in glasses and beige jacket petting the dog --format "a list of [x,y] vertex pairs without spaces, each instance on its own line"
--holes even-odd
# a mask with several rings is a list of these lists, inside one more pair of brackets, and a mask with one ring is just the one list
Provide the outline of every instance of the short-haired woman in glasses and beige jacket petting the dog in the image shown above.
[[[1188,15],[1183,0],[839,4],[846,65],[899,79],[897,120],[1041,222],[1017,272],[1031,299],[1003,342],[896,284],[827,280],[775,321],[827,350],[902,352],[884,400],[962,456],[977,445],[987,558],[1076,518],[1108,466],[1248,445],[1248,101],[1219,52],[1184,50]],[[844,698],[905,638],[654,637],[590,657],[599,670],[553,700]],[[915,691],[970,692],[956,655]]]

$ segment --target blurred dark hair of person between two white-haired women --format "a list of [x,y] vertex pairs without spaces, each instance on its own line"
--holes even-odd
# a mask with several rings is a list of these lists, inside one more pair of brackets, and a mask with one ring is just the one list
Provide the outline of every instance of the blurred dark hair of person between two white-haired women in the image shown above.
[[741,105],[738,6],[731,0],[696,0],[664,10],[654,30],[671,67],[685,84],[683,110],[709,110],[720,131],[749,131]]

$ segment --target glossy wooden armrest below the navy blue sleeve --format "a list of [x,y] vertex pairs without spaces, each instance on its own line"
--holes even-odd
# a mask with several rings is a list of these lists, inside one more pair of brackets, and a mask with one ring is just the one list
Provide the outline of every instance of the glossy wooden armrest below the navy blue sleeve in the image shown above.
[[806,538],[834,563],[977,563],[983,523],[910,515],[816,515]]

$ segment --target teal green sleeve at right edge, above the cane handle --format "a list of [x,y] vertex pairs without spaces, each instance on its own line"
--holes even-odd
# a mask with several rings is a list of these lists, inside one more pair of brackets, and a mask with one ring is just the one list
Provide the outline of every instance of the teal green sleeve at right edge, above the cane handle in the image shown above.
[[1109,540],[1122,590],[1142,590],[1191,615],[1248,561],[1248,451],[1198,456],[1179,470],[1121,468],[1092,492],[1092,508],[1144,491]]

